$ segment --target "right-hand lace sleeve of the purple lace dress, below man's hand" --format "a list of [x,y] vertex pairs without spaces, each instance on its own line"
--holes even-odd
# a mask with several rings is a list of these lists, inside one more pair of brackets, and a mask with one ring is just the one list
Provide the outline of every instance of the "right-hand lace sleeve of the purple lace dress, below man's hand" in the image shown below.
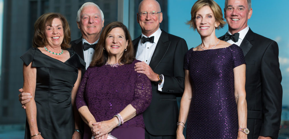
[[131,105],[136,109],[136,114],[141,114],[149,107],[152,98],[151,81],[145,74],[137,73],[135,87],[134,87],[134,100]]

